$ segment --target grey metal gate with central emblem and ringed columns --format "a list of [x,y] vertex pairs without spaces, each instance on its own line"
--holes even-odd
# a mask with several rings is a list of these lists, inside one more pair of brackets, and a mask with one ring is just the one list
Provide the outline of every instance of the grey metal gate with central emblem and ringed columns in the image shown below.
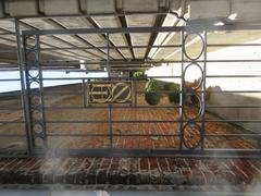
[[[235,29],[236,30],[236,29]],[[165,46],[165,47],[174,47],[179,48],[181,50],[181,60],[177,61],[169,61],[167,63],[181,63],[182,64],[182,73],[178,76],[163,76],[164,78],[179,78],[181,79],[181,91],[179,91],[179,103],[176,106],[157,106],[157,107],[150,107],[150,106],[139,106],[137,103],[137,95],[141,94],[144,95],[145,91],[137,89],[137,83],[138,81],[144,81],[148,78],[161,78],[161,76],[154,76],[154,77],[122,77],[121,83],[116,83],[116,85],[126,86],[123,87],[124,90],[127,90],[127,94],[125,96],[125,99],[121,99],[120,96],[115,96],[120,98],[114,99],[111,94],[113,94],[113,90],[115,90],[115,87],[112,87],[115,84],[115,81],[119,78],[97,78],[101,79],[102,82],[90,82],[90,78],[77,78],[83,81],[83,94],[80,94],[84,97],[84,105],[80,107],[46,107],[45,106],[45,90],[44,90],[44,81],[54,81],[60,78],[48,78],[42,76],[42,70],[41,65],[42,62],[40,61],[40,37],[45,35],[55,35],[55,34],[65,34],[65,35],[72,35],[72,34],[104,34],[107,37],[109,37],[110,34],[115,33],[153,33],[153,32],[178,32],[181,33],[181,42],[178,45],[173,46]],[[199,42],[201,45],[198,54],[191,56],[186,49],[186,44],[189,41],[189,36],[196,36],[199,39]],[[25,75],[26,75],[26,91],[27,91],[27,100],[28,100],[28,139],[29,139],[29,148],[32,149],[32,155],[45,155],[47,152],[55,154],[55,155],[88,155],[88,156],[181,156],[181,155],[234,155],[235,151],[238,155],[259,155],[260,149],[233,149],[233,150],[226,150],[226,149],[206,149],[204,139],[208,137],[206,133],[206,123],[212,122],[211,120],[206,120],[206,96],[207,96],[207,89],[206,89],[206,69],[207,63],[209,62],[207,60],[207,38],[208,38],[208,32],[192,32],[187,29],[186,27],[140,27],[140,28],[104,28],[104,29],[69,29],[69,30],[29,30],[29,32],[23,32],[23,41],[24,41],[24,63],[25,63]],[[32,44],[33,41],[33,44]],[[164,46],[158,46],[161,48],[164,48]],[[110,49],[113,49],[113,47],[107,46],[108,49],[108,57]],[[217,60],[216,62],[222,62],[222,60]],[[163,61],[159,61],[163,62]],[[151,63],[159,63],[153,62],[151,60]],[[107,66],[108,70],[110,70],[110,59],[107,59]],[[188,89],[188,84],[186,83],[186,73],[191,68],[196,66],[200,70],[201,76],[199,81],[197,82],[196,86],[192,86],[189,88],[189,91],[186,91]],[[32,72],[34,71],[34,72]],[[34,74],[33,74],[34,73]],[[72,78],[67,78],[72,79]],[[74,78],[76,79],[76,78]],[[86,81],[87,85],[86,85]],[[34,84],[34,86],[33,86]],[[109,84],[109,86],[107,85]],[[126,85],[126,84],[133,84],[133,89]],[[107,90],[101,89],[105,87]],[[100,90],[98,90],[100,88]],[[111,89],[112,88],[112,89]],[[119,90],[117,90],[119,93]],[[163,91],[163,94],[169,94],[171,91]],[[89,96],[88,96],[89,95]],[[102,100],[100,98],[102,98]],[[102,96],[105,96],[107,99]],[[187,111],[188,108],[186,107],[186,100],[187,96],[192,97],[194,100],[197,102],[197,112],[194,115],[188,114]],[[87,101],[86,101],[87,99]],[[113,102],[116,103],[123,103],[127,102],[129,106],[122,106],[122,105],[112,105]],[[99,106],[99,105],[92,105],[92,103],[108,103],[105,106]],[[46,120],[46,111],[52,111],[52,110],[59,110],[59,109],[79,109],[79,110],[105,110],[108,111],[109,115],[108,119],[104,120],[83,120],[83,121],[70,121],[70,120],[62,120],[62,121],[55,121],[55,120]],[[115,117],[113,117],[114,110],[120,109],[127,109],[127,110],[147,110],[147,109],[175,109],[178,111],[178,118],[167,120],[167,119],[160,119],[160,120],[141,120],[136,119],[133,120],[132,118],[126,120],[117,120]],[[114,118],[114,119],[113,119]],[[225,120],[224,120],[225,121]],[[226,122],[229,122],[226,121]],[[258,121],[257,121],[258,122]],[[62,134],[55,134],[50,133],[47,130],[47,124],[62,124],[62,123],[86,123],[86,124],[108,124],[109,132],[102,133],[102,134],[74,134],[73,130],[71,133],[62,133]],[[135,124],[135,123],[177,123],[178,128],[177,132],[162,134],[150,134],[150,133],[144,133],[144,134],[132,134],[132,133],[125,133],[125,134],[116,134],[115,128],[113,130],[113,125],[115,124]],[[62,149],[62,148],[49,148],[48,139],[51,136],[63,136],[63,137],[74,137],[74,136],[82,136],[82,137],[103,137],[109,139],[109,145],[103,148],[96,146],[94,148],[76,148],[76,149]],[[236,134],[234,134],[234,137]],[[241,137],[240,135],[238,135]],[[245,134],[247,136],[247,134]],[[256,135],[258,136],[258,135]],[[129,137],[132,139],[135,139],[137,137],[175,137],[176,143],[178,144],[177,147],[172,148],[115,148],[114,146],[114,139],[115,137]],[[225,137],[225,136],[224,136]],[[260,135],[258,136],[260,138]],[[158,138],[157,138],[158,139]],[[145,139],[146,140],[146,139]]]

